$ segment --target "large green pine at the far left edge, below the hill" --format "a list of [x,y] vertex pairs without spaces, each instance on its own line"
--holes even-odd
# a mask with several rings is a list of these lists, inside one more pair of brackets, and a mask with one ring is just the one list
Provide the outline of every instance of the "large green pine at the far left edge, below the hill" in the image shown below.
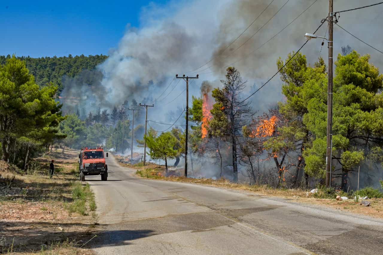
[[[26,160],[32,147],[46,146],[58,132],[62,120],[61,105],[54,96],[57,87],[47,84],[39,88],[25,62],[8,58],[0,67],[0,139],[2,160],[9,161],[15,139],[26,144]],[[32,146],[31,144],[34,144]]]

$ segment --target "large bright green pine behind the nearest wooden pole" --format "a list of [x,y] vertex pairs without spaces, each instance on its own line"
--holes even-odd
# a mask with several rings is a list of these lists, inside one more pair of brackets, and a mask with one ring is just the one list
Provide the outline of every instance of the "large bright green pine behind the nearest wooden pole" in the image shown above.
[[[335,62],[334,102],[332,119],[332,159],[335,171],[342,173],[342,188],[347,191],[348,172],[364,159],[379,157],[383,146],[383,108],[381,93],[383,75],[368,62],[370,56],[352,51],[338,55]],[[304,150],[306,172],[324,177],[326,168],[326,103],[327,80],[311,79],[304,84],[303,100],[308,112],[303,123],[315,139]]]

